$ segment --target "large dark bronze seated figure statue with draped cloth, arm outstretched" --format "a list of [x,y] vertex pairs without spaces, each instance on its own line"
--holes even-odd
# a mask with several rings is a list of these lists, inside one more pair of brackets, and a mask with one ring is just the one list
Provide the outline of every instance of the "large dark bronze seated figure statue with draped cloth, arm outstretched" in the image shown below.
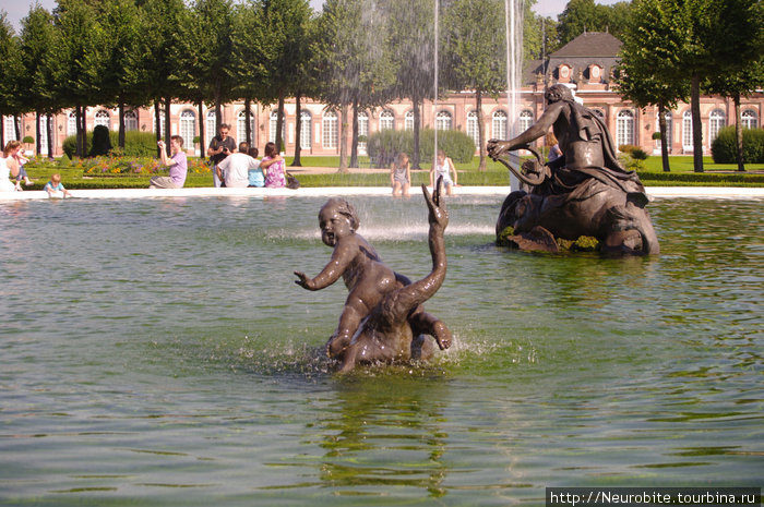
[[[605,253],[657,254],[645,188],[636,172],[618,161],[605,123],[577,104],[568,86],[551,86],[546,98],[549,106],[528,130],[510,141],[488,142],[490,157],[530,186],[529,192],[512,192],[504,201],[497,239],[522,250],[557,251],[558,240],[594,237]],[[562,156],[544,165],[529,143],[550,128]],[[537,160],[516,170],[503,157],[516,149],[530,150]]]

